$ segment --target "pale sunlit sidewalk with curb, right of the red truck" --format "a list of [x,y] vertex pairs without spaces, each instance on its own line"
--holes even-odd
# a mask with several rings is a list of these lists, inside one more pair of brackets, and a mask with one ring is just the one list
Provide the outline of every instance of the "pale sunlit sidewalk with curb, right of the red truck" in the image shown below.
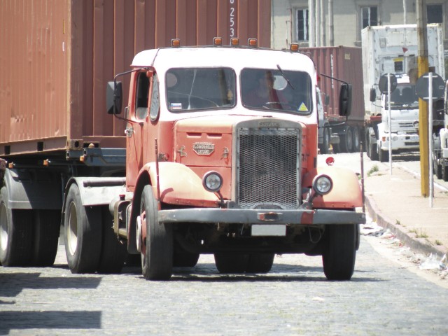
[[421,196],[419,177],[400,167],[379,167],[364,176],[365,211],[412,251],[429,255],[448,252],[448,193],[434,188],[433,207]]

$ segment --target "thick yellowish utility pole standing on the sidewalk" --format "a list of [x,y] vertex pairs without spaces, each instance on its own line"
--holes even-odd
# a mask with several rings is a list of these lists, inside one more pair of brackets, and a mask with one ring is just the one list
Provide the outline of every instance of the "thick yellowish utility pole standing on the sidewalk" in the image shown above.
[[[428,34],[426,29],[426,0],[416,0],[417,40],[418,40],[418,73],[419,78],[428,72]],[[428,159],[428,103],[419,99],[419,138],[420,138],[420,176],[421,195],[429,196],[429,159]]]

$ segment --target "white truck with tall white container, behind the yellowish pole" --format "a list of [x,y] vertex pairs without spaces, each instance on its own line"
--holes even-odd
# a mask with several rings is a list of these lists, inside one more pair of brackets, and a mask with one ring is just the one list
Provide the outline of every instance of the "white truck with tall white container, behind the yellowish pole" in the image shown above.
[[[442,27],[430,24],[427,32],[430,71],[444,78]],[[361,37],[366,151],[370,159],[386,162],[389,139],[393,153],[419,150],[416,25],[366,27]],[[391,132],[387,94],[381,94],[378,87],[379,78],[386,73],[397,79],[396,89],[391,93]]]

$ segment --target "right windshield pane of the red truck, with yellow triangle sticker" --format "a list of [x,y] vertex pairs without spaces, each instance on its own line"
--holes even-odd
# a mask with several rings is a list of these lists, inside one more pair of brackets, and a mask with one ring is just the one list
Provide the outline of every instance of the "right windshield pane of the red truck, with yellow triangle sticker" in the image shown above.
[[311,78],[303,71],[243,69],[241,99],[249,109],[309,114],[312,111]]

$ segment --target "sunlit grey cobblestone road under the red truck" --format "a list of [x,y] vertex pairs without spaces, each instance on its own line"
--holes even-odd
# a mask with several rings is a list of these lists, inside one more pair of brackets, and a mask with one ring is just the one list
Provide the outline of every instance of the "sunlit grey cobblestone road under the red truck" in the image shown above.
[[0,335],[447,335],[448,290],[383,258],[365,237],[351,281],[321,258],[276,256],[272,272],[223,276],[210,255],[171,281],[0,267]]

